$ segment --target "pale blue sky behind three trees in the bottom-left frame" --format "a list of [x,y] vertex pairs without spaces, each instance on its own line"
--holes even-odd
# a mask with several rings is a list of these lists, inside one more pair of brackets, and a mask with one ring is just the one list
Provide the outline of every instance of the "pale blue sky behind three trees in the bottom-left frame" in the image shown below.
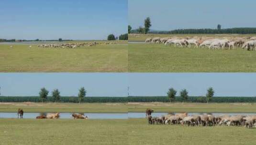
[[38,96],[41,88],[59,89],[62,96],[127,96],[126,73],[0,73],[1,95]]

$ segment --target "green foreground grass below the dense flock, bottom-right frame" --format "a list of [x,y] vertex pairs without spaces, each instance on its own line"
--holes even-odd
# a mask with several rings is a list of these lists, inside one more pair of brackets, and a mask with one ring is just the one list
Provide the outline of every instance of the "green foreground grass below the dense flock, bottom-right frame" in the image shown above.
[[129,119],[129,145],[255,145],[256,129],[235,126],[149,125]]

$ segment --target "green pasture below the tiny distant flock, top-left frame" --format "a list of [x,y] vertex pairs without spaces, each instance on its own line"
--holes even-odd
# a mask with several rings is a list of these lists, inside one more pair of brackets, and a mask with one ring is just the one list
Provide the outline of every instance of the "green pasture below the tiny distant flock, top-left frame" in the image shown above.
[[0,72],[127,72],[127,41],[78,49],[29,46],[0,44]]

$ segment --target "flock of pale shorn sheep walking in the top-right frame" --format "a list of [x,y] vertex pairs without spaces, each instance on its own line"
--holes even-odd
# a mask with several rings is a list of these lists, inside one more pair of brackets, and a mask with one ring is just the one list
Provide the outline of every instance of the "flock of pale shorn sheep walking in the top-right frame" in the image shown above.
[[154,37],[147,38],[145,42],[163,43],[165,46],[179,47],[208,47],[209,49],[234,49],[242,47],[245,50],[256,50],[256,37],[212,38],[212,37]]

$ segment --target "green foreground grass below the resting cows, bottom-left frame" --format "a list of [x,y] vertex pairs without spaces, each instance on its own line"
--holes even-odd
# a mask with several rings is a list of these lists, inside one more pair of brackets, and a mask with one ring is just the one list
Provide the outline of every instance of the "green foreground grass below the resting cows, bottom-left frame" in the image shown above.
[[121,145],[126,126],[124,119],[0,119],[0,145]]

